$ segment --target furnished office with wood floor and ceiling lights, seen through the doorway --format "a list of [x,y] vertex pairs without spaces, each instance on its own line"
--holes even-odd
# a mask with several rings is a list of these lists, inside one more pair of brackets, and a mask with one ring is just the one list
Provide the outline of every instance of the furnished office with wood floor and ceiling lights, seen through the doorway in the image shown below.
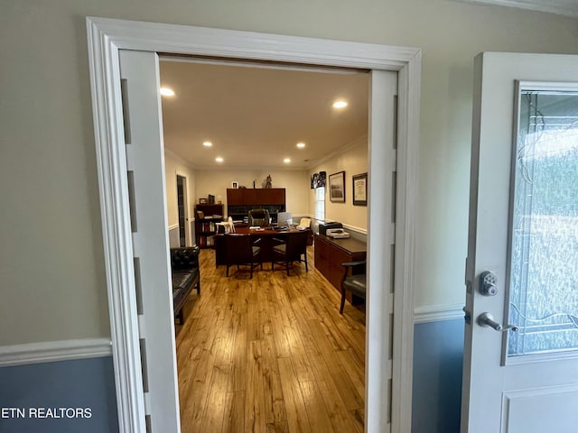
[[[305,406],[319,431],[363,431],[365,299],[348,292],[340,313],[343,271],[330,272],[323,251],[340,243],[349,262],[365,260],[368,72],[167,58],[160,73],[168,236],[172,252],[200,247],[202,295],[191,287],[174,309],[182,431],[210,431],[215,419],[230,431],[292,429],[288,414]],[[256,222],[262,207],[268,220]],[[285,267],[267,244],[285,236],[289,248],[297,227],[306,251]],[[245,260],[229,271],[239,246],[225,231],[259,241],[255,270]],[[230,404],[213,407],[223,377]]]

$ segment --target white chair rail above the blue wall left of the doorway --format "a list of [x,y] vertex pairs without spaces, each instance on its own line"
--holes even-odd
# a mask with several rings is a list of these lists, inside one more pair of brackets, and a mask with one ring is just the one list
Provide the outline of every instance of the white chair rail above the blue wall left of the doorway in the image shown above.
[[111,355],[112,346],[109,338],[82,338],[26,345],[4,345],[0,346],[0,367],[53,363]]

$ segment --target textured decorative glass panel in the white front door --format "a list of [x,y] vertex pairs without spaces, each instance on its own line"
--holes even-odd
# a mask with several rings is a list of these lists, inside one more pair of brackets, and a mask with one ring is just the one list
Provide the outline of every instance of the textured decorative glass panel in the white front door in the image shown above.
[[578,90],[521,88],[508,356],[578,348]]

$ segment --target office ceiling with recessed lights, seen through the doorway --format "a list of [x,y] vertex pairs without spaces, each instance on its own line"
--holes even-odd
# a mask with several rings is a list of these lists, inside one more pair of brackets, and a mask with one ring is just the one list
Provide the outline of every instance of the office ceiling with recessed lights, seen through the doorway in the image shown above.
[[196,169],[305,170],[368,131],[367,71],[167,58],[160,70],[175,92],[163,97],[165,149]]

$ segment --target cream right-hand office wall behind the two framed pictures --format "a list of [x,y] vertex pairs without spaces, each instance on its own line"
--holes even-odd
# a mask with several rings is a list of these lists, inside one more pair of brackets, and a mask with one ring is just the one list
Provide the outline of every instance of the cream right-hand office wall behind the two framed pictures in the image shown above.
[[[346,146],[343,152],[310,170],[309,176],[319,171],[327,172],[325,189],[325,219],[356,228],[364,233],[368,230],[368,207],[353,206],[353,176],[368,171],[368,138],[360,138]],[[329,198],[329,177],[338,171],[345,171],[345,203],[331,202]],[[310,212],[315,209],[315,190],[309,189]]]

